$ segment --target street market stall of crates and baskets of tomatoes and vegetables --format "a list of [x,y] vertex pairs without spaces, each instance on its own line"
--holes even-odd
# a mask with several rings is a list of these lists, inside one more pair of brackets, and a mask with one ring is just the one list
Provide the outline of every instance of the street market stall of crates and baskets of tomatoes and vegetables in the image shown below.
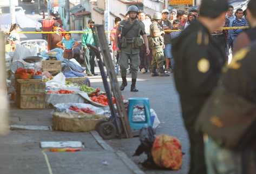
[[[116,77],[108,76],[115,82],[111,90],[107,82],[107,75],[103,69],[99,50],[97,61],[100,65],[104,89],[90,87],[89,79],[83,68],[75,59],[64,59],[62,49],[36,52],[23,46],[17,46],[14,53],[11,71],[14,77],[15,100],[21,109],[44,109],[53,107],[52,128],[61,131],[90,131],[97,125],[101,128],[110,124],[116,125],[116,134],[130,137],[129,123],[127,126],[128,106],[124,108],[124,97],[118,88]],[[25,57],[18,56],[18,52],[27,50]],[[42,49],[35,49],[42,50]],[[103,50],[103,49],[102,49]],[[106,55],[103,55],[103,57]],[[13,59],[14,60],[14,59]],[[106,62],[110,66],[111,62]],[[111,67],[111,66],[110,66]],[[113,69],[113,68],[112,68]],[[113,94],[112,94],[113,93]],[[136,106],[133,120],[143,122],[146,109]],[[159,119],[154,110],[150,110],[150,126],[156,128]],[[148,116],[148,115],[147,115]],[[122,125],[122,126],[119,126]],[[112,132],[113,133],[113,132]]]

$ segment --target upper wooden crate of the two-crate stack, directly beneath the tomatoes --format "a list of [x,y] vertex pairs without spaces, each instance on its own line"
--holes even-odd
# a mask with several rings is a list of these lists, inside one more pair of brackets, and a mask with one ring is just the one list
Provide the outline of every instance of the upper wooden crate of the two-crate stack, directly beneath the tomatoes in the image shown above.
[[17,95],[43,95],[45,83],[36,79],[17,79]]

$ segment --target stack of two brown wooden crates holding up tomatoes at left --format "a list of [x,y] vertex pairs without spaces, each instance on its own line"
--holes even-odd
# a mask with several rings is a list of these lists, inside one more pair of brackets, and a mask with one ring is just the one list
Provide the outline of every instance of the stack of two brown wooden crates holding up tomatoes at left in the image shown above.
[[45,83],[36,79],[17,80],[17,105],[22,109],[44,109]]

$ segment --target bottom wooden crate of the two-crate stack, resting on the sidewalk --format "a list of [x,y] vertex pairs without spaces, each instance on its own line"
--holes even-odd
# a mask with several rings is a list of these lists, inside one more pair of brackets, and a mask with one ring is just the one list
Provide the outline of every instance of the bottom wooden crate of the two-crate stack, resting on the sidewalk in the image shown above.
[[17,105],[21,109],[44,109],[44,95],[20,95],[17,96]]

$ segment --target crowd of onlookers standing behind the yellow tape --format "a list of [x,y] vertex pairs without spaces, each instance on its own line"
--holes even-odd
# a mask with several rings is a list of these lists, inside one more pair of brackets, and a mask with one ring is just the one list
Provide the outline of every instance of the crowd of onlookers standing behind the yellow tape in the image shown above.
[[[150,34],[150,31],[152,30],[153,23],[157,22],[160,26],[160,30],[162,30],[162,34],[160,36],[157,36],[161,39],[163,39],[163,55],[164,59],[162,60],[162,56],[159,54],[159,49],[157,50],[157,54],[155,56],[160,57],[160,61],[155,61],[157,63],[158,70],[154,70],[154,49],[153,45],[150,45],[149,42],[149,55],[146,53],[146,45],[145,43],[142,44],[139,51],[139,70],[141,73],[147,73],[151,72],[151,75],[153,77],[155,76],[169,76],[168,73],[172,73],[174,71],[174,65],[175,61],[172,54],[172,44],[175,42],[175,39],[179,37],[182,30],[185,30],[193,21],[198,19],[199,17],[199,10],[198,9],[191,9],[188,12],[183,10],[168,10],[164,9],[161,11],[161,13],[157,12],[156,14],[151,17],[149,14],[146,14],[143,11],[139,11],[139,9],[135,9],[137,12],[136,19],[140,21],[144,26],[144,31],[147,35],[148,42],[150,39],[155,36],[152,36]],[[248,26],[248,22],[245,18],[245,12],[242,9],[237,9],[235,11],[234,15],[234,8],[232,5],[228,6],[228,11],[225,17],[225,23],[221,26],[225,27],[232,27],[232,26]],[[129,10],[126,14],[126,17],[124,20],[129,20]],[[111,48],[113,51],[113,60],[114,64],[116,66],[116,72],[119,71],[119,62],[117,61],[121,57],[121,52],[116,51],[116,43],[115,43],[115,35],[116,35],[116,29],[118,28],[119,23],[121,22],[121,18],[116,17],[115,18],[115,26],[111,30],[110,34],[110,42],[111,42]],[[176,31],[174,31],[176,30]],[[242,29],[231,29],[231,30],[216,30],[211,32],[212,38],[221,45],[221,48],[226,52],[226,59],[228,59],[228,56],[233,51],[233,42],[235,38],[240,34]],[[120,32],[121,34],[121,32]],[[121,35],[117,37],[117,43],[121,42]],[[121,48],[119,48],[121,50]],[[160,56],[159,56],[160,55]],[[159,58],[157,58],[159,59]],[[163,65],[162,65],[163,64]],[[152,69],[153,68],[153,69]],[[123,75],[124,76],[124,75]],[[125,82],[125,81],[124,81]],[[126,84],[126,83],[124,83]],[[122,88],[121,88],[122,89]]]

